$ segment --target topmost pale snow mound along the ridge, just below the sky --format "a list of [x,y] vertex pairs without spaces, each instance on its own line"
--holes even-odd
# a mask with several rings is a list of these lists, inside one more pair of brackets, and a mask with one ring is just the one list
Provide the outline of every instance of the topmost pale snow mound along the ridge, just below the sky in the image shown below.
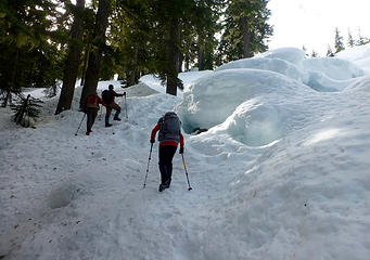
[[216,70],[255,68],[282,74],[305,83],[316,91],[341,91],[363,76],[363,70],[352,62],[340,58],[304,58],[302,50],[281,48],[221,65]]

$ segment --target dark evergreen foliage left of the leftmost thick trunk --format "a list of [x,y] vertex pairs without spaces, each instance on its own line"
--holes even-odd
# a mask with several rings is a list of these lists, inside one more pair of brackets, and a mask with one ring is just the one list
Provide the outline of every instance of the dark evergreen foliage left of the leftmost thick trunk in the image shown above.
[[0,1],[0,81],[3,106],[22,87],[46,88],[61,78],[63,34],[55,29],[61,14],[47,0]]

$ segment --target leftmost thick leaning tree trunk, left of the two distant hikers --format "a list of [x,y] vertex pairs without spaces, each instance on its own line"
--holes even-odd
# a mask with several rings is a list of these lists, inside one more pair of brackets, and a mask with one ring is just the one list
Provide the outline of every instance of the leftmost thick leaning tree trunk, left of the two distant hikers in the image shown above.
[[78,66],[80,63],[80,52],[81,52],[81,43],[84,35],[84,21],[81,20],[81,13],[85,9],[85,0],[77,0],[76,3],[77,13],[75,14],[75,21],[71,28],[71,48],[68,52],[68,57],[66,61],[66,66],[64,70],[63,77],[63,87],[61,91],[61,96],[59,99],[59,103],[56,106],[55,115],[60,114],[63,110],[71,109],[73,95],[75,92],[76,78],[78,74]]

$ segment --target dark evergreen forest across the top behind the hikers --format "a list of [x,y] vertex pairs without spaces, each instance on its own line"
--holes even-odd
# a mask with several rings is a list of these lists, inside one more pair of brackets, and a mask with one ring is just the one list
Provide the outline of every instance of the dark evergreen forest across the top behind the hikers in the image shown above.
[[71,108],[76,79],[82,95],[118,75],[127,86],[157,75],[168,94],[180,72],[213,69],[266,51],[272,35],[268,0],[2,0],[2,106],[22,88],[61,95]]

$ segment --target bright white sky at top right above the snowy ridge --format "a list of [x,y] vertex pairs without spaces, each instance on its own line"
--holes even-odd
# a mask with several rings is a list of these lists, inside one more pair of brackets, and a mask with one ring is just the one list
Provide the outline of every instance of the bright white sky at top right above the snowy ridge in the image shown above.
[[315,50],[326,55],[333,48],[335,27],[347,42],[348,28],[357,39],[358,30],[370,37],[369,0],[270,0],[269,23],[275,35],[270,49],[305,46],[308,54]]

